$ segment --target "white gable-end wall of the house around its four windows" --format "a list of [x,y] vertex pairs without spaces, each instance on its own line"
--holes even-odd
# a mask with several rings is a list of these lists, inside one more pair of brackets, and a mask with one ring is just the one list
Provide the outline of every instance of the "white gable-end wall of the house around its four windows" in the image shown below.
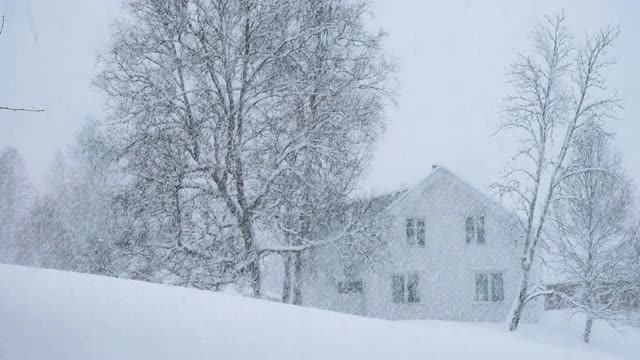
[[[452,177],[429,180],[429,186],[411,191],[391,209],[387,236],[392,265],[368,276],[368,314],[389,319],[504,320],[515,296],[519,264],[514,240],[504,230],[503,213]],[[465,219],[471,215],[485,217],[484,244],[466,242]],[[425,219],[425,246],[407,244],[407,218]],[[475,273],[480,271],[504,273],[504,301],[474,301]],[[420,274],[419,303],[393,303],[394,272]]]

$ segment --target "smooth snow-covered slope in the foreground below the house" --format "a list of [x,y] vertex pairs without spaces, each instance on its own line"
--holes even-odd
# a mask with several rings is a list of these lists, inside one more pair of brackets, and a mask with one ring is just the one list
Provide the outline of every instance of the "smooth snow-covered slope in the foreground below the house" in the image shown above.
[[640,335],[563,312],[525,324],[390,322],[193,289],[0,265],[0,359],[615,359]]

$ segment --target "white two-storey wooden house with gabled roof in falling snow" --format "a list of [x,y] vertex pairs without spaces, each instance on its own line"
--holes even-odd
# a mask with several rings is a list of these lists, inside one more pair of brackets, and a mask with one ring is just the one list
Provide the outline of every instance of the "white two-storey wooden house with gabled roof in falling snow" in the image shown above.
[[[520,279],[515,215],[441,166],[385,212],[390,261],[347,278],[321,251],[305,305],[392,320],[506,319]],[[535,320],[542,307],[528,308]]]

